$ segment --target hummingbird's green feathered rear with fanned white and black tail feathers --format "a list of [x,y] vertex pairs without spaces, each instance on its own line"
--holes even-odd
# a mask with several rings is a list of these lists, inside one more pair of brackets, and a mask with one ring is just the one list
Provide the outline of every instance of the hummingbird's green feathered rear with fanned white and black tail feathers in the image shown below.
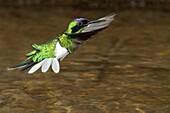
[[24,71],[31,68],[28,73],[32,74],[39,68],[41,68],[42,72],[47,72],[49,67],[52,66],[52,70],[58,73],[60,65],[58,59],[55,57],[56,43],[57,40],[53,40],[40,45],[32,45],[34,50],[26,54],[28,58],[23,63],[12,66],[8,70],[20,68],[20,71]]

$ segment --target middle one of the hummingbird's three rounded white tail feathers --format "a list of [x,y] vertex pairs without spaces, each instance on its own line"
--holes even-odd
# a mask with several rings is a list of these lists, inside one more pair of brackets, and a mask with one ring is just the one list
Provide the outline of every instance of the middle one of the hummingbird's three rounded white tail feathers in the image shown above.
[[41,71],[42,71],[43,73],[45,73],[45,72],[48,71],[48,69],[49,69],[49,67],[50,67],[50,65],[51,65],[51,62],[52,62],[52,58],[48,58],[48,59],[45,59],[45,60],[44,60],[44,64],[43,64],[42,67],[41,67]]

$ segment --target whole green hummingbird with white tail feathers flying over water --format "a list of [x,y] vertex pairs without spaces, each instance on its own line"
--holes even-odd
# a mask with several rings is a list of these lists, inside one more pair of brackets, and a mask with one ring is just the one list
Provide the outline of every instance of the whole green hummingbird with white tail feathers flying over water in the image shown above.
[[114,20],[115,15],[112,13],[93,21],[86,18],[75,18],[69,23],[66,31],[55,39],[38,45],[33,44],[33,50],[26,54],[26,60],[9,67],[8,70],[20,69],[20,71],[24,71],[30,68],[28,74],[32,74],[41,68],[41,71],[45,73],[51,66],[54,73],[59,73],[59,62],[75,52],[93,35],[107,28]]

